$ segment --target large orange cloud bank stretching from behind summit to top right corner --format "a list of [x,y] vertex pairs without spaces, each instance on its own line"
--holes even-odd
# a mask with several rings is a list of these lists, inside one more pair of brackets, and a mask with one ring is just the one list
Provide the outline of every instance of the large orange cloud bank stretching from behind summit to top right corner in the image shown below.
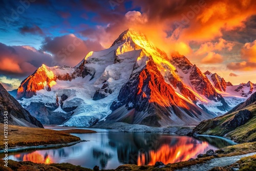
[[[133,28],[146,34],[148,40],[167,54],[178,51],[187,55],[191,52],[190,42],[212,41],[220,38],[223,31],[243,29],[247,18],[256,14],[256,1],[141,0],[134,1],[133,7],[141,7],[141,11],[118,15],[108,25],[84,30],[82,34],[109,48],[121,32]],[[221,38],[206,43],[201,50],[230,51],[233,46]]]

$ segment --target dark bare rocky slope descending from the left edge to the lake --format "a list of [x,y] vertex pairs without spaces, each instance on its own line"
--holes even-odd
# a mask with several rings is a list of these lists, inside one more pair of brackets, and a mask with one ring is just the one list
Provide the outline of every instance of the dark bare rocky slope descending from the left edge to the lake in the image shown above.
[[12,97],[0,84],[0,122],[4,123],[4,112],[8,112],[8,124],[20,126],[44,127],[30,113],[25,110],[19,102]]

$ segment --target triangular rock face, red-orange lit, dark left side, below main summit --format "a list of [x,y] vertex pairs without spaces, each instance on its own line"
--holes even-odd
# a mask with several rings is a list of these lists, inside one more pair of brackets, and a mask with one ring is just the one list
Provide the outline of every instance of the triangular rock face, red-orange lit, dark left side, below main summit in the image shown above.
[[118,98],[111,105],[112,111],[122,111],[125,115],[113,112],[106,121],[167,126],[169,124],[196,123],[211,117],[197,106],[181,99],[174,89],[164,81],[152,59],[144,69],[131,75],[120,90]]

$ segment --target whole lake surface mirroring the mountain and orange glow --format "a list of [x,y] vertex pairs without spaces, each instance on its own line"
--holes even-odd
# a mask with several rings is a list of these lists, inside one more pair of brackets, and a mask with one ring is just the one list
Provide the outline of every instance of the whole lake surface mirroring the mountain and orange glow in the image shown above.
[[100,169],[113,169],[122,164],[186,161],[210,148],[217,149],[206,139],[168,134],[101,132],[73,135],[90,141],[57,149],[9,153],[9,159],[45,164],[69,162],[88,168],[98,165]]

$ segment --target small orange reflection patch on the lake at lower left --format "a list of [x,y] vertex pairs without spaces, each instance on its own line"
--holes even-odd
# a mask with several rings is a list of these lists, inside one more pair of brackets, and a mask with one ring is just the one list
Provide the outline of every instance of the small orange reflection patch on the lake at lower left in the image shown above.
[[[14,155],[16,158],[21,157],[20,155]],[[44,163],[44,164],[51,164],[53,160],[50,158],[49,155],[46,157],[38,152],[32,152],[29,154],[25,154],[23,156],[23,161],[32,161],[34,163]]]

